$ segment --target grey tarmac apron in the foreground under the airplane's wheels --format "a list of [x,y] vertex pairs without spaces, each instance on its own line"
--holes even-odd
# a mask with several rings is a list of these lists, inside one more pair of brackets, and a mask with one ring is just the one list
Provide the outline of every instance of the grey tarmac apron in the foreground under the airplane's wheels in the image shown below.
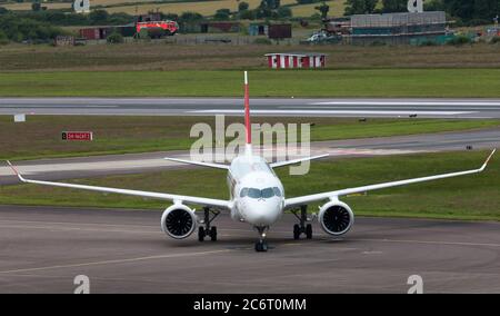
[[222,215],[219,241],[168,238],[161,211],[0,206],[0,293],[500,293],[500,224],[357,218],[343,238],[314,224],[291,238],[286,215],[257,233]]

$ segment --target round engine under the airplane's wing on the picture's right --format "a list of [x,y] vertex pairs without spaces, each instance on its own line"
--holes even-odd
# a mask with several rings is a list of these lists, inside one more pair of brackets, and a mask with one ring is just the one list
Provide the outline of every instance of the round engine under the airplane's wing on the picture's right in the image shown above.
[[354,214],[342,201],[329,201],[320,208],[318,220],[327,234],[340,236],[351,228],[354,223]]

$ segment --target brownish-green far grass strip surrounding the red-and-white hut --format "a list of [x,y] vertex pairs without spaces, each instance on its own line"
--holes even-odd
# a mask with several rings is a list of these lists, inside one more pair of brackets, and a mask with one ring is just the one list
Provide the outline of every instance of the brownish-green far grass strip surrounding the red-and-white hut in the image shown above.
[[[306,38],[312,31],[302,30]],[[197,36],[197,34],[193,34]],[[180,36],[184,37],[184,36]],[[207,37],[207,34],[204,34]],[[234,34],[218,34],[231,38]],[[130,71],[266,69],[271,51],[321,51],[327,68],[500,68],[499,46],[356,47],[267,45],[88,45],[84,47],[0,46],[0,71]],[[33,58],[36,56],[36,58]],[[230,60],[230,62],[228,62]],[[2,76],[0,73],[0,76]]]

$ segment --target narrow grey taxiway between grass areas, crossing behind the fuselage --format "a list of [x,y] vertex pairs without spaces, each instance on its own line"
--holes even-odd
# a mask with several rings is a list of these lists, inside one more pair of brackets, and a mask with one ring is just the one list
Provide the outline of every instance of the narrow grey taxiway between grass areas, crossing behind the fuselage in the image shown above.
[[[330,154],[330,158],[404,155],[429,151],[500,148],[500,129],[381,137],[311,144],[310,155]],[[188,151],[166,151],[16,162],[19,170],[34,179],[62,180],[108,175],[153,172],[190,165],[171,162],[163,157],[189,159]],[[296,157],[289,157],[296,158]],[[479,164],[480,161],[478,161]],[[312,162],[313,164],[313,162]],[[0,164],[0,185],[18,184],[12,170]]]

